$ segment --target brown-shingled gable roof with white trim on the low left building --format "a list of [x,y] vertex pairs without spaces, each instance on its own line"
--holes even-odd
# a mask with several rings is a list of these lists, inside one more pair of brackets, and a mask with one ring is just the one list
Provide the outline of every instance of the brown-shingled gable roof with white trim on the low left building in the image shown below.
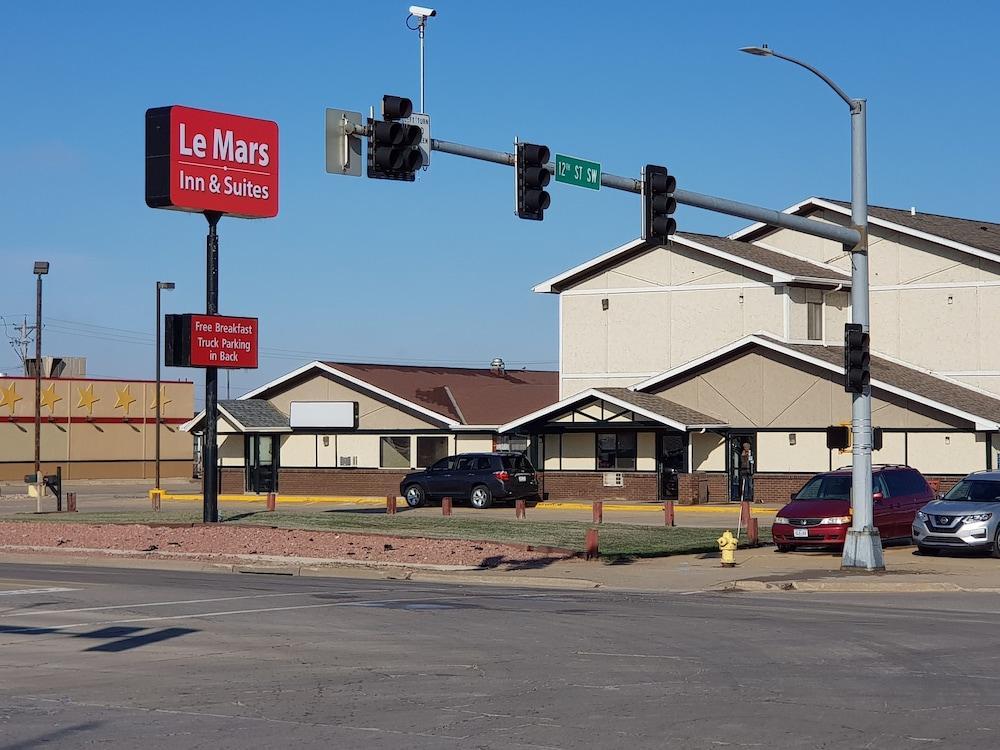
[[494,428],[559,396],[559,373],[423,365],[311,362],[240,397],[268,398],[303,377],[322,374],[451,428]]

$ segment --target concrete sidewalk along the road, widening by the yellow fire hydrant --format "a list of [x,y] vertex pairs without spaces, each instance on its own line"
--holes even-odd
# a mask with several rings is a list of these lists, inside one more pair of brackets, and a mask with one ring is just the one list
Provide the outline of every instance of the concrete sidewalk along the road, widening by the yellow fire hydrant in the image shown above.
[[449,570],[441,566],[321,561],[314,558],[233,556],[215,560],[179,555],[127,557],[99,550],[29,550],[12,545],[0,563],[79,564],[165,570],[271,573],[328,577],[381,577],[541,588],[601,588],[623,591],[697,593],[828,592],[902,595],[921,592],[1000,594],[1000,562],[984,556],[922,557],[911,546],[885,550],[886,572],[842,572],[834,552],[779,554],[772,547],[740,550],[737,566],[723,568],[717,555],[677,555],[618,562],[558,560],[534,566]]

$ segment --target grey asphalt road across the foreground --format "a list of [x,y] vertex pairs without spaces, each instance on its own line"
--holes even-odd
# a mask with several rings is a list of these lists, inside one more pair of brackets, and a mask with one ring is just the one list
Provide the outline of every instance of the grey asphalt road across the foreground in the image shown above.
[[985,595],[639,595],[0,566],[0,748],[1000,739]]

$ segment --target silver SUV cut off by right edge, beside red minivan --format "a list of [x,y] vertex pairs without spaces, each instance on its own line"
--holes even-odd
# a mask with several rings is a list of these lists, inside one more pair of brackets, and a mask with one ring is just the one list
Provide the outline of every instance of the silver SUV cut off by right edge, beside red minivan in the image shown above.
[[943,549],[989,550],[1000,558],[1000,471],[977,471],[913,519],[913,541],[922,555]]

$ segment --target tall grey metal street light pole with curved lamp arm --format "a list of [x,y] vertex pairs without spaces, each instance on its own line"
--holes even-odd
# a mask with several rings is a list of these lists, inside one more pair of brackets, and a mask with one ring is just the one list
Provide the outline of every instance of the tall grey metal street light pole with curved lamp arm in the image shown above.
[[[868,314],[868,146],[866,102],[849,97],[824,73],[794,57],[775,52],[766,44],[743,47],[741,52],[758,57],[777,57],[805,68],[832,88],[851,108],[851,222],[861,235],[861,242],[851,252],[851,321],[869,331]],[[873,526],[872,514],[872,396],[865,386],[851,397],[851,528],[844,544],[842,568],[884,570],[882,542]]]

